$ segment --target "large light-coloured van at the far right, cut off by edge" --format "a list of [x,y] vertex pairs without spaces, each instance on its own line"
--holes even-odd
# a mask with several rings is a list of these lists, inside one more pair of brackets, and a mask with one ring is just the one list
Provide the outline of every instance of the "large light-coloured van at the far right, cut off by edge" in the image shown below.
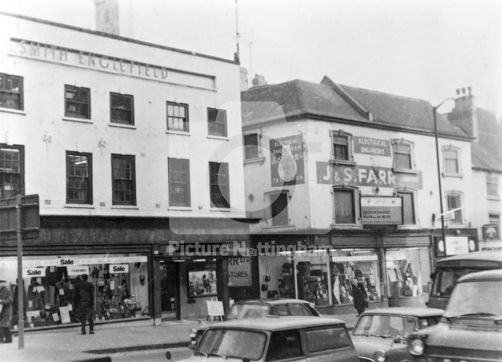
[[412,333],[408,349],[417,362],[499,362],[502,269],[458,279],[439,323]]

